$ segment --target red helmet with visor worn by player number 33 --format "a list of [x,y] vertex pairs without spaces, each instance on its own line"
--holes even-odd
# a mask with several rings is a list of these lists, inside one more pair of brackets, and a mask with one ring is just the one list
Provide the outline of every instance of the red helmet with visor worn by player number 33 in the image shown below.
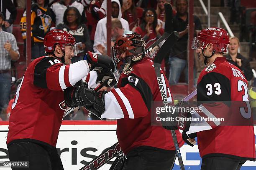
[[215,52],[227,52],[229,44],[228,32],[223,28],[210,27],[201,30],[192,42],[192,49],[204,50],[208,44],[213,44]]

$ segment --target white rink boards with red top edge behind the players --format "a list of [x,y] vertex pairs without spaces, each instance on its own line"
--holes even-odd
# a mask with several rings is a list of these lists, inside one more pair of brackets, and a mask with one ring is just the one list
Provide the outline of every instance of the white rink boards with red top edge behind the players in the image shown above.
[[[56,148],[61,153],[65,170],[79,170],[103,150],[112,146],[116,138],[116,121],[64,121],[61,125]],[[256,132],[256,126],[254,127]],[[0,161],[8,159],[6,138],[8,122],[0,122]],[[242,145],[242,144],[241,144]],[[201,158],[197,145],[181,147],[183,163],[186,170],[200,170]],[[179,170],[179,162],[175,161],[174,170]],[[100,170],[108,170],[110,164],[105,164]],[[1,169],[1,167],[0,167]],[[11,170],[10,168],[4,168]],[[256,162],[247,161],[241,170],[255,170]]]

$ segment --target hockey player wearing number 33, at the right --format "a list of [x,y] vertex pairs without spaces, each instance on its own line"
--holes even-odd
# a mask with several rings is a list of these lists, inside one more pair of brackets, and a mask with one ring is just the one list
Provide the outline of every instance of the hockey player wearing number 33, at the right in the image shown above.
[[183,128],[178,123],[178,128],[184,130],[182,138],[191,146],[189,141],[197,136],[201,170],[240,170],[246,160],[255,161],[247,80],[238,67],[223,57],[228,44],[228,33],[217,27],[202,30],[192,43],[192,49],[207,67],[197,82],[197,107],[201,109],[191,116],[206,119],[187,121]]

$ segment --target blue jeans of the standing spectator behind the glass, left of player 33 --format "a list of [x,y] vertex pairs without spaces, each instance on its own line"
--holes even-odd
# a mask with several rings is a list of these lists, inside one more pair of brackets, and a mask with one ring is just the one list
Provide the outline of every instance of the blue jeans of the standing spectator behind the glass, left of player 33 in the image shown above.
[[[176,85],[179,82],[181,72],[184,70],[185,81],[188,82],[188,64],[187,60],[180,59],[178,57],[169,58],[169,84]],[[196,69],[194,67],[194,84],[196,85]]]

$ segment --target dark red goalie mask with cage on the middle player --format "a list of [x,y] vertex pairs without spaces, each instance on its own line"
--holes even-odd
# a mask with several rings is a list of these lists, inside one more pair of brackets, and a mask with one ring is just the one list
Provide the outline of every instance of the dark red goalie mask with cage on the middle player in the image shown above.
[[144,53],[145,42],[136,33],[122,35],[112,47],[113,61],[120,73],[126,72],[133,63],[141,60]]

